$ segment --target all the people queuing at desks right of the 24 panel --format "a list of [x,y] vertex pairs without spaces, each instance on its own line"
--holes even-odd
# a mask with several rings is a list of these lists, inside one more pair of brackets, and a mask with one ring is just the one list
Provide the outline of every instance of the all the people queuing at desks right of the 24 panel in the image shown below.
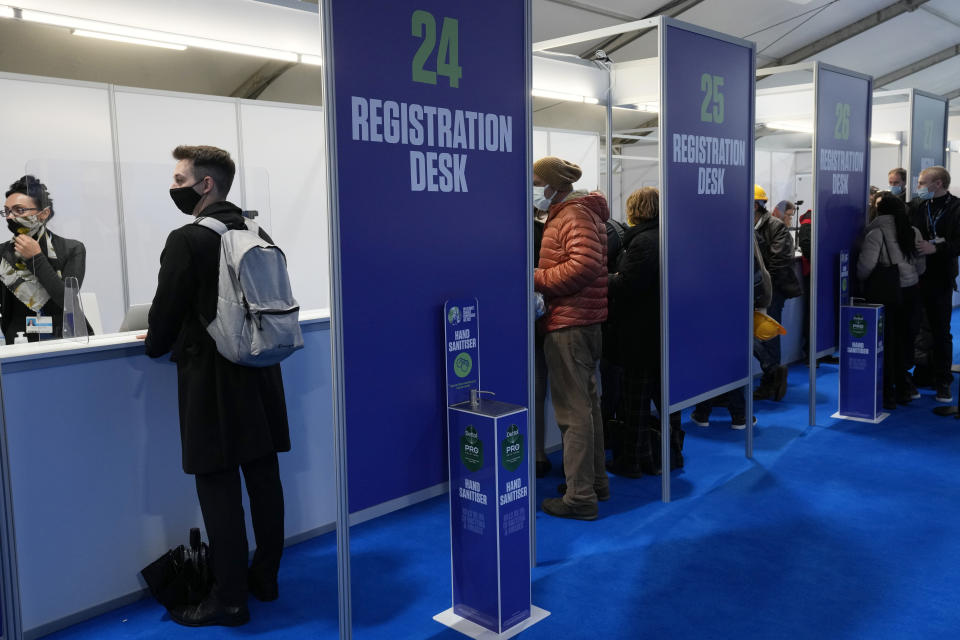
[[[538,345],[543,345],[537,367],[537,475],[550,470],[543,445],[547,381],[562,435],[565,475],[559,497],[546,498],[542,509],[557,517],[593,520],[598,503],[610,497],[607,471],[631,478],[661,473],[659,192],[653,187],[633,192],[623,227],[610,220],[602,194],[573,189],[581,175],[575,164],[541,158],[533,174],[538,229],[534,288],[546,303],[537,322]],[[890,190],[871,196],[875,215],[854,253],[861,293],[887,308],[883,405],[888,410],[920,397],[910,369],[924,317],[932,335],[929,382],[938,402],[953,400],[950,316],[960,255],[960,200],[949,193],[950,175],[943,167],[921,172],[917,197],[909,205],[905,183],[906,172],[893,169]],[[789,232],[795,205],[780,201],[771,212],[767,202],[766,191],[757,185],[754,308],[777,326],[786,300],[809,291],[809,268],[800,270],[801,280]],[[807,265],[811,219],[808,211],[799,220]],[[754,399],[781,401],[787,367],[781,362],[779,332],[765,333],[758,332],[754,343],[763,371]],[[709,426],[717,404],[728,408],[732,428],[746,428],[743,389],[701,402],[692,421]],[[679,412],[669,422],[676,468],[683,465]],[[606,463],[605,449],[613,452]]]

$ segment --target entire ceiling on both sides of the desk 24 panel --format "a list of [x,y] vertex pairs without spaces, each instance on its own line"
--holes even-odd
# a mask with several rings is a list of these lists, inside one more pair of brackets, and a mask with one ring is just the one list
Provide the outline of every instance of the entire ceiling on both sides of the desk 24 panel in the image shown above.
[[[316,0],[0,0],[4,4],[160,31],[207,29],[210,38],[298,53],[320,50]],[[871,74],[886,88],[948,95],[960,112],[960,0],[533,0],[533,37],[542,41],[660,14],[754,40],[759,67],[822,60]],[[558,51],[588,57],[600,45],[617,62],[656,53],[653,33]],[[63,27],[22,20],[0,19],[0,70],[320,100],[317,67],[202,49],[170,52],[89,41]]]

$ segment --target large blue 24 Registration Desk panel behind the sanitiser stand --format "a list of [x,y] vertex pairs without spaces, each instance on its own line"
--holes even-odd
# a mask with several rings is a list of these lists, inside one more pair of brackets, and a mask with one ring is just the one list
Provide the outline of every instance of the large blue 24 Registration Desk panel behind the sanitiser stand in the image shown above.
[[526,4],[330,0],[351,511],[447,479],[444,300],[483,301],[484,384],[526,404]]

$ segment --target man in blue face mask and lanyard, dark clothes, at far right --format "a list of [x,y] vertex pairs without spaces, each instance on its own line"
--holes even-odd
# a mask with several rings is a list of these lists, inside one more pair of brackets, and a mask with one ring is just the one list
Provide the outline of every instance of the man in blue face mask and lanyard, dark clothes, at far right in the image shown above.
[[917,251],[927,256],[927,270],[920,278],[920,299],[933,334],[930,373],[937,390],[937,402],[950,403],[953,402],[950,315],[960,255],[960,199],[948,191],[950,174],[943,167],[921,171],[917,187],[917,197],[910,201],[910,222],[923,235]]

